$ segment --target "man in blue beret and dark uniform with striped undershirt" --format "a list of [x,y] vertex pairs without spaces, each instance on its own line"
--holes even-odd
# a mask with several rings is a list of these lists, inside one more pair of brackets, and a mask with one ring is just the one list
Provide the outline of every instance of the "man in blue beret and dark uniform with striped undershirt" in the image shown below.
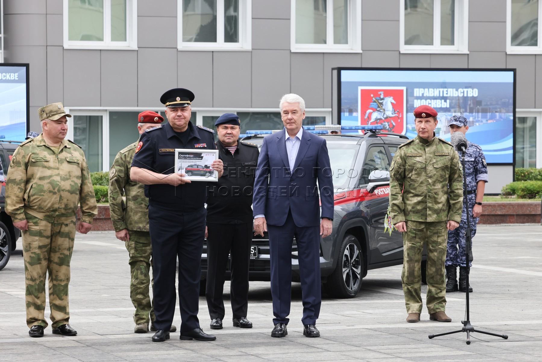
[[225,113],[215,123],[218,156],[224,174],[217,185],[209,184],[207,199],[207,306],[211,329],[222,329],[224,319],[224,274],[231,257],[231,311],[233,326],[252,328],[247,319],[248,268],[252,243],[252,194],[258,147],[240,142],[241,121]]

